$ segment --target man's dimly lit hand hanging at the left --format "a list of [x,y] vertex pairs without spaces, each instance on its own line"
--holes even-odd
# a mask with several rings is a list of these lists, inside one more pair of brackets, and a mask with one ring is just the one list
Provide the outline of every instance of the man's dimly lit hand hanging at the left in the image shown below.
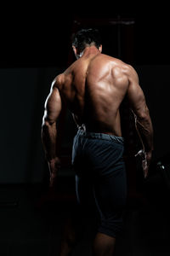
[[55,157],[53,160],[48,161],[48,167],[50,172],[49,187],[54,188],[57,182],[57,174],[60,169],[59,157]]

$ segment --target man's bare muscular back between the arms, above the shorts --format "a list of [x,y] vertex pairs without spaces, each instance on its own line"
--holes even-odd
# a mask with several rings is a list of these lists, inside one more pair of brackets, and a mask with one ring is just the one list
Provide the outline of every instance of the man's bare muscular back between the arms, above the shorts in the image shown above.
[[82,55],[55,79],[77,125],[122,136],[119,107],[127,92],[128,69],[122,61],[95,52]]

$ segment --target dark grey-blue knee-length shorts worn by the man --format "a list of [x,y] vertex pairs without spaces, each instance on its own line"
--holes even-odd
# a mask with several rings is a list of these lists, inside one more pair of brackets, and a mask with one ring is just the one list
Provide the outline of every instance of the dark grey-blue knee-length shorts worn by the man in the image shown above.
[[77,201],[90,211],[94,201],[99,212],[98,231],[116,237],[122,232],[127,179],[122,137],[79,130],[72,148]]

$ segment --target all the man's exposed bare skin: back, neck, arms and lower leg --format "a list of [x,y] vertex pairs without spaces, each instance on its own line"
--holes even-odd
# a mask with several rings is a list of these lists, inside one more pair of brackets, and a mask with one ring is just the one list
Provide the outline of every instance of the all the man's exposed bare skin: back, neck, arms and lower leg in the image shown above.
[[[56,122],[62,105],[65,103],[70,109],[77,126],[83,124],[88,131],[122,137],[119,108],[126,95],[144,143],[147,159],[144,177],[147,177],[153,150],[153,129],[138,74],[126,63],[101,54],[101,46],[99,49],[94,45],[87,46],[82,53],[74,46],[73,50],[77,61],[54,79],[45,103],[42,142],[51,172],[51,185],[59,169]],[[100,241],[105,241],[104,247]],[[98,233],[94,240],[94,255],[113,255],[114,245],[114,237]]]

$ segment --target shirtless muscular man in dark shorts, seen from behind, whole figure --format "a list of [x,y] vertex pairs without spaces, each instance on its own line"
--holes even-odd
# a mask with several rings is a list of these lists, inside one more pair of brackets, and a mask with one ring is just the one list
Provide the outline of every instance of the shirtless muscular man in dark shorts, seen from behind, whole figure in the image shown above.
[[53,183],[59,170],[56,123],[62,105],[66,104],[78,128],[72,149],[77,201],[86,207],[87,190],[91,188],[99,211],[93,252],[95,256],[110,256],[114,253],[116,236],[122,230],[122,211],[126,202],[119,112],[125,96],[144,143],[144,177],[147,177],[150,166],[153,129],[137,73],[126,63],[101,53],[99,32],[94,29],[77,32],[72,48],[77,61],[54,79],[45,102],[42,142]]

